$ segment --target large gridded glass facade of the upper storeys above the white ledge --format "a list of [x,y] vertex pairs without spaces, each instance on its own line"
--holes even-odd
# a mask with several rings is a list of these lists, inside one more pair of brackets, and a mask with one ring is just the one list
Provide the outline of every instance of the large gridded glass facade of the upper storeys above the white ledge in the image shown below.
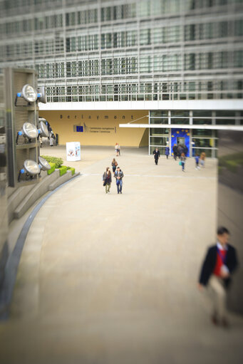
[[53,103],[242,98],[242,36],[240,0],[0,0],[0,68]]

